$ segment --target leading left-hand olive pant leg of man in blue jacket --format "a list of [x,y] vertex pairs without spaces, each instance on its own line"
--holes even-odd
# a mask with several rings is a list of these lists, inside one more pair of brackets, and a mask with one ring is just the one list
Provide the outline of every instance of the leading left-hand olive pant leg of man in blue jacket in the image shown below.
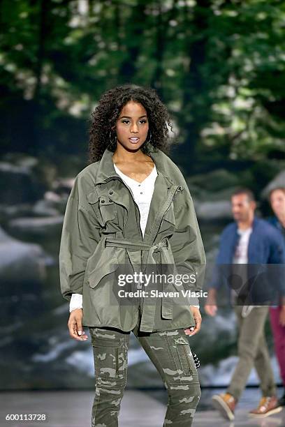
[[[254,367],[254,359],[258,354],[258,346],[261,336],[264,333],[265,320],[268,315],[268,307],[254,307],[247,315],[242,317],[242,307],[235,306],[235,313],[238,317],[239,336],[238,336],[238,364],[231,378],[227,392],[232,394],[236,399],[240,398],[247,379]],[[266,345],[266,342],[263,343]],[[267,345],[266,345],[267,346]],[[263,359],[264,370],[271,370],[270,361]]]

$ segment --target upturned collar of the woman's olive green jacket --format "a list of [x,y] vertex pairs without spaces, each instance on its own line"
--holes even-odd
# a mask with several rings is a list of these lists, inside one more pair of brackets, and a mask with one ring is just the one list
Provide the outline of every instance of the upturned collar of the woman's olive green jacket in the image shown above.
[[[152,160],[154,160],[157,173],[162,174],[163,177],[168,178],[168,180],[173,183],[173,180],[171,179],[171,177],[169,177],[169,174],[167,172],[166,158],[168,156],[166,156],[166,154],[163,153],[163,151],[161,151],[160,149],[154,149],[152,144],[149,145],[149,155],[152,157]],[[114,163],[112,161],[113,154],[114,153],[112,151],[105,149],[101,160],[99,160],[98,171],[95,177],[95,184],[104,183],[109,177],[119,177],[119,175],[115,171]]]

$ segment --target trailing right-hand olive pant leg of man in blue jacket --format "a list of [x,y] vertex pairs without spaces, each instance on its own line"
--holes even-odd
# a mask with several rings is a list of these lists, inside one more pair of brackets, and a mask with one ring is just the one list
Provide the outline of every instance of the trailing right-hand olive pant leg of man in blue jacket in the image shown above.
[[275,396],[276,386],[274,373],[271,366],[268,345],[265,339],[264,329],[258,343],[258,350],[254,359],[254,368],[261,382],[261,391],[263,396]]

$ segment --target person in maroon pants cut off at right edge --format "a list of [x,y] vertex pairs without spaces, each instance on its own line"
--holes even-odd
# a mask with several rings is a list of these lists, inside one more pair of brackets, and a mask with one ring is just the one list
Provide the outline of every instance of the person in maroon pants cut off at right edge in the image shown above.
[[[270,205],[275,216],[269,218],[282,234],[285,244],[285,186],[270,191]],[[283,269],[282,269],[283,271]],[[283,277],[285,287],[285,277]],[[285,289],[280,293],[279,306],[270,307],[270,323],[275,344],[275,353],[279,362],[280,375],[284,384],[284,394],[279,399],[279,405],[285,406]]]

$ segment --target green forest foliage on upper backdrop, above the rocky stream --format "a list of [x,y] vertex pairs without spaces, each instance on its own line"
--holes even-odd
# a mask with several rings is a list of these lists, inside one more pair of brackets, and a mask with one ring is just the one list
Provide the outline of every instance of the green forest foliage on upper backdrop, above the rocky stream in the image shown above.
[[87,157],[105,89],[155,87],[199,160],[284,158],[285,5],[277,0],[0,3],[2,153]]

